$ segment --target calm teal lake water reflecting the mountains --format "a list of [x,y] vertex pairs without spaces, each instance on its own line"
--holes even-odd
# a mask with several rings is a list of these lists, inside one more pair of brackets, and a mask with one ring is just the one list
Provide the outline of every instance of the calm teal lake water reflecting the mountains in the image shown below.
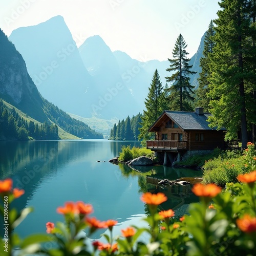
[[[25,189],[25,195],[15,201],[22,209],[33,206],[34,211],[16,228],[25,237],[46,232],[48,221],[62,221],[56,212],[66,201],[83,201],[94,207],[99,220],[116,219],[116,232],[135,224],[142,225],[146,214],[140,196],[156,187],[146,182],[146,175],[175,180],[180,177],[200,177],[190,169],[165,166],[148,168],[139,173],[124,165],[109,163],[118,156],[122,145],[139,146],[138,142],[108,140],[0,142],[0,179],[11,177],[14,187]],[[99,162],[98,162],[99,161]],[[181,187],[181,186],[179,186]],[[165,189],[168,201],[162,207],[177,212],[197,201],[184,187]],[[2,231],[1,231],[2,232]],[[100,237],[102,230],[92,239]]]

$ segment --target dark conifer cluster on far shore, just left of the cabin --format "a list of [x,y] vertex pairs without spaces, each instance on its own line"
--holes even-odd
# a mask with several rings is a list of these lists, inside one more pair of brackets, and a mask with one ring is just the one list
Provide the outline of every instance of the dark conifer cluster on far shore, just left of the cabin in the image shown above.
[[114,124],[110,132],[110,140],[138,140],[139,127],[141,127],[141,115],[138,114],[130,118],[119,120],[118,124]]

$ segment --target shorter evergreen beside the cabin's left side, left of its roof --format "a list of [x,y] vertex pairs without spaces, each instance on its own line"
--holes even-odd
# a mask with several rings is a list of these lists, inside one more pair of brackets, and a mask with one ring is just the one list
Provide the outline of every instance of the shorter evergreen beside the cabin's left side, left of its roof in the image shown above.
[[146,110],[143,111],[143,116],[141,116],[142,122],[139,128],[139,139],[142,139],[144,142],[153,139],[153,135],[148,133],[148,129],[163,112],[163,87],[157,70],[154,73],[151,87],[148,90],[149,92],[145,99]]

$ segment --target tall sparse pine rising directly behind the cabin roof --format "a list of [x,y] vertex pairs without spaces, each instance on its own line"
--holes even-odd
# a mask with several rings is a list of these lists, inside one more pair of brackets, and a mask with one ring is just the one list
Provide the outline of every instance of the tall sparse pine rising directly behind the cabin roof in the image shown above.
[[[166,71],[176,71],[176,73],[172,76],[165,77],[167,82],[172,83],[172,86],[170,87],[170,98],[179,103],[180,111],[189,111],[192,107],[188,102],[189,100],[194,100],[194,97],[191,96],[191,94],[194,93],[194,86],[191,86],[189,83],[189,75],[196,74],[196,72],[190,71],[192,66],[188,65],[190,59],[186,57],[188,55],[185,50],[186,48],[186,42],[180,34],[173,50],[173,59],[168,58],[170,67],[166,69]],[[177,95],[179,95],[179,98],[177,98]],[[186,101],[186,104],[184,104],[184,101]],[[178,108],[177,103],[175,105],[176,108]]]

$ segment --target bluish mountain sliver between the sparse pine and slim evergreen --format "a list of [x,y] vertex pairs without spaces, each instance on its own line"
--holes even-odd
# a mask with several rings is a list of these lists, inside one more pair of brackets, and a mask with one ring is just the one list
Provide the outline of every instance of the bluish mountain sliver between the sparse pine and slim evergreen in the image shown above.
[[193,55],[193,57],[190,58],[189,61],[189,65],[193,65],[193,67],[191,68],[191,71],[195,71],[197,72],[196,74],[190,75],[190,84],[192,86],[195,86],[194,90],[198,89],[199,83],[198,83],[198,78],[200,76],[200,73],[202,72],[202,68],[200,67],[200,59],[203,56],[203,50],[204,50],[204,38],[205,38],[205,34],[202,36],[201,41],[200,41],[200,45],[198,47],[197,52]]

